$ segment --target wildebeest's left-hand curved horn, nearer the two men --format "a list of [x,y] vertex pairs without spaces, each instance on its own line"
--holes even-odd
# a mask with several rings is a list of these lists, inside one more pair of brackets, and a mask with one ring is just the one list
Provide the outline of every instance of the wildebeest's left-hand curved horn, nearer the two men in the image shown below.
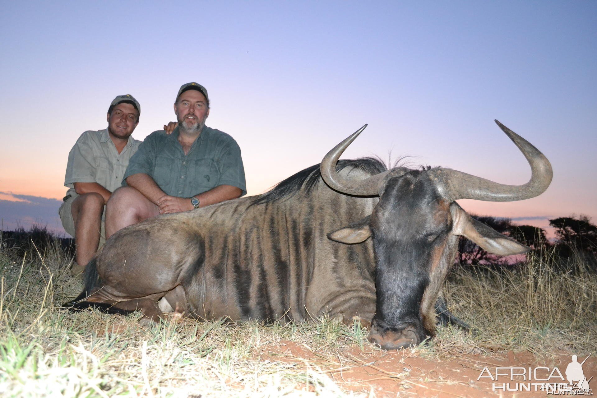
[[339,192],[356,196],[379,195],[384,177],[386,177],[389,172],[408,171],[408,169],[405,167],[397,167],[395,169],[384,171],[379,174],[372,175],[365,180],[359,181],[347,180],[336,172],[336,163],[338,162],[340,155],[342,155],[350,143],[352,143],[352,141],[354,141],[355,138],[361,134],[365,127],[367,127],[367,125],[359,128],[348,138],[346,138],[346,140],[336,145],[330,152],[327,153],[327,155],[324,156],[324,159],[321,161],[321,177],[324,179],[325,183]]

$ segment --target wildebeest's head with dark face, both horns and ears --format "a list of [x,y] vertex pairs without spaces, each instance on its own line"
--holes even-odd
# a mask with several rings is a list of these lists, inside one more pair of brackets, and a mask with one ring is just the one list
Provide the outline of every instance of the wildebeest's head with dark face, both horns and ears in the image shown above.
[[531,180],[524,185],[498,184],[446,168],[397,167],[362,181],[342,178],[336,173],[338,158],[367,125],[323,159],[321,174],[330,187],[349,195],[380,197],[370,216],[328,234],[342,243],[360,243],[370,236],[373,239],[377,309],[369,335],[372,343],[389,350],[419,344],[426,335],[433,335],[434,304],[453,264],[458,236],[498,255],[530,250],[474,220],[455,202],[528,199],[549,186],[552,168],[547,158],[527,140],[496,123],[531,165]]

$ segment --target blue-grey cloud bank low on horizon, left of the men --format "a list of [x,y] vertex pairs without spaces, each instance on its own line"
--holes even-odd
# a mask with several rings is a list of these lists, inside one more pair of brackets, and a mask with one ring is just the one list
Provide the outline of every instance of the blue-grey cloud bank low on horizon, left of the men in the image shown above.
[[42,196],[0,192],[0,228],[5,231],[19,227],[29,229],[38,224],[56,235],[67,236],[58,216],[61,204],[61,200]]

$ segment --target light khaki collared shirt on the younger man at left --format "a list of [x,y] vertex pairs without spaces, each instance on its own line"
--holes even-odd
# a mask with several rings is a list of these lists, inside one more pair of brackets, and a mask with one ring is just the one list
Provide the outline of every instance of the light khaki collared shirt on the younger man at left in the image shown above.
[[69,152],[64,177],[64,186],[69,187],[66,195],[77,196],[75,183],[98,183],[114,192],[122,185],[128,161],[140,144],[141,141],[128,137],[127,144],[118,153],[107,129],[85,131]]

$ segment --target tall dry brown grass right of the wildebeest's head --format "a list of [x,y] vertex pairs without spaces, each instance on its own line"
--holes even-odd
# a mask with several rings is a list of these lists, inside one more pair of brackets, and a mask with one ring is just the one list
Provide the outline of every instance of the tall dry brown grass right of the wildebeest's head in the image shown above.
[[[515,347],[541,356],[596,351],[597,274],[580,255],[566,269],[556,267],[548,250],[516,266],[455,270],[447,282],[448,303],[478,329],[461,334],[466,337],[461,344],[478,351]],[[444,329],[433,345],[441,351],[455,343],[454,331]]]

